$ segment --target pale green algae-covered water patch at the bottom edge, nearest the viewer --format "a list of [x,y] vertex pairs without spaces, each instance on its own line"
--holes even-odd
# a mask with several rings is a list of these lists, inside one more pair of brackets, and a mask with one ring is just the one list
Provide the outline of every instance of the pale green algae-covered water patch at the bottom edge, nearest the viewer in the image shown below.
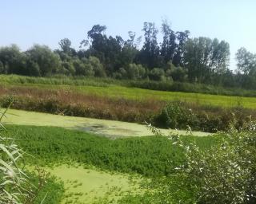
[[114,203],[128,192],[138,190],[140,179],[130,175],[113,174],[106,171],[69,167],[66,165],[47,169],[64,182],[65,194],[62,203],[94,203],[101,200]]

